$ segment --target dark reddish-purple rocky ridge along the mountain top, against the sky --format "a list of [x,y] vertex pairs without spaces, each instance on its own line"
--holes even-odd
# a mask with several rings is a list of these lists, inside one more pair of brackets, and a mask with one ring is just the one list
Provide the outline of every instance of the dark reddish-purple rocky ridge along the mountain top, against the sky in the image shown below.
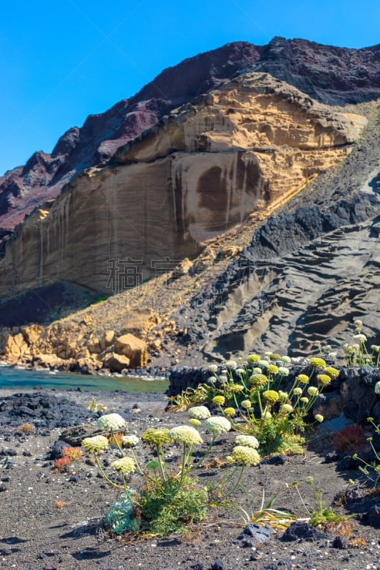
[[[265,71],[322,103],[346,104],[380,96],[380,46],[336,48],[274,38],[267,46],[229,43],[168,68],[139,93],[106,113],[69,129],[51,154],[38,151],[24,166],[0,177],[0,237],[48,199],[73,175],[106,162],[121,145],[163,115],[217,88],[235,73]],[[242,72],[240,71],[242,70]]]

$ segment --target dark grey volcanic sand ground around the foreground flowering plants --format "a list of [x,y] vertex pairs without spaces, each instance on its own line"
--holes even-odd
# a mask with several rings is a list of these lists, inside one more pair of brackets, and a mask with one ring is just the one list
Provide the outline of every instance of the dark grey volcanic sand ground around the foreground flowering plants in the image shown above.
[[[110,536],[102,527],[102,517],[117,499],[98,477],[96,467],[83,455],[73,463],[73,470],[53,472],[52,450],[68,426],[86,423],[88,431],[96,431],[98,414],[88,410],[95,398],[108,406],[108,411],[123,415],[128,433],[140,435],[148,427],[172,427],[187,423],[185,412],[165,412],[167,400],[162,394],[130,394],[125,392],[90,393],[78,390],[31,390],[0,393],[0,567],[18,570],[232,570],[248,569],[376,569],[380,567],[379,510],[380,495],[370,498],[366,493],[364,475],[353,462],[332,460],[331,439],[316,435],[305,447],[304,455],[281,456],[263,460],[257,467],[245,470],[243,484],[254,508],[260,506],[262,492],[267,499],[279,489],[274,507],[288,509],[305,517],[297,493],[290,487],[299,481],[305,502],[313,507],[310,487],[304,483],[312,475],[317,487],[326,491],[330,504],[337,493],[347,487],[349,479],[356,483],[346,507],[340,512],[361,512],[354,519],[351,539],[364,539],[365,544],[353,546],[346,539],[321,534],[300,524],[282,538],[274,532],[267,541],[252,546],[251,537],[237,540],[244,524],[230,512],[210,517],[187,536],[138,539],[125,534]],[[34,430],[25,435],[18,428],[31,423]],[[203,439],[209,436],[201,428]],[[74,434],[75,435],[75,434]],[[78,437],[83,437],[79,433]],[[235,434],[221,436],[212,457],[221,460],[229,455]],[[138,446],[136,454],[142,461],[150,459],[150,450]],[[178,451],[168,448],[175,462]],[[115,451],[105,452],[101,461],[109,463]],[[346,467],[346,469],[344,469]],[[216,481],[222,470],[207,465],[198,473],[200,484]],[[133,475],[130,486],[138,489],[140,478]],[[286,484],[289,487],[286,487]],[[235,495],[236,500],[242,497]],[[56,500],[66,502],[63,509]],[[243,503],[242,503],[243,504]],[[377,505],[377,507],[376,507]],[[344,510],[346,509],[346,510]],[[369,515],[366,513],[369,512]],[[376,524],[378,525],[376,529]],[[288,536],[290,534],[290,536]],[[286,540],[288,538],[288,540]]]

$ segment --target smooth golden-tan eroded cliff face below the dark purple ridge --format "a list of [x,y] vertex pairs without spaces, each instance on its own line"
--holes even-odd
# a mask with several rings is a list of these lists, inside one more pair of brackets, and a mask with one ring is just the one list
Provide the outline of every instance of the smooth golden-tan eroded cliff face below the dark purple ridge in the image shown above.
[[139,284],[156,261],[194,257],[207,239],[294,195],[342,160],[365,123],[266,74],[226,83],[21,224],[3,247],[0,296],[61,279],[109,294]]

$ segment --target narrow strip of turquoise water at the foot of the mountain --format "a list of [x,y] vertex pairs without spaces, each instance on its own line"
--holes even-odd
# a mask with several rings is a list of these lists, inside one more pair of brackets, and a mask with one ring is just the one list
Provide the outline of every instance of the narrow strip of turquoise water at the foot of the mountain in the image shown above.
[[24,390],[28,388],[81,388],[82,390],[125,390],[125,392],[145,393],[160,392],[168,389],[167,380],[147,380],[145,378],[115,378],[74,373],[49,373],[45,371],[16,370],[0,367],[0,390]]

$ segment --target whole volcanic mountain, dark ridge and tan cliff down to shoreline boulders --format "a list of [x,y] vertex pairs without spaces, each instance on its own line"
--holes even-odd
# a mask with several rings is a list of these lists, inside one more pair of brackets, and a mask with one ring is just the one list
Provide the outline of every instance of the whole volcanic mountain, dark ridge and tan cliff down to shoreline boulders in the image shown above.
[[[59,180],[89,167],[1,246],[1,324],[66,318],[14,329],[6,357],[120,371],[300,354],[342,343],[354,318],[375,342],[379,53],[230,44],[164,71],[119,138],[108,127],[87,147],[80,137],[81,160],[71,168],[63,152]],[[165,81],[170,98],[145,120]],[[86,291],[112,296],[76,312]]]

